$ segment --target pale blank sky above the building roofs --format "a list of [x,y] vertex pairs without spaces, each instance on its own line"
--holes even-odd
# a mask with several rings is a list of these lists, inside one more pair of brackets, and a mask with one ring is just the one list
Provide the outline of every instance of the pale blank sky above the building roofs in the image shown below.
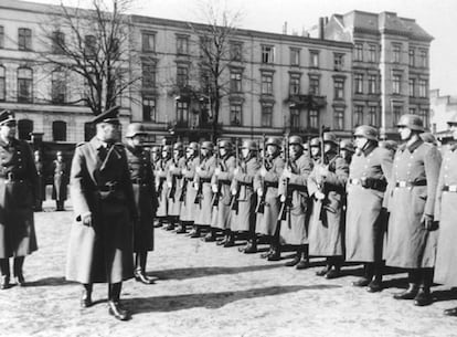
[[[0,0],[1,1],[1,0]],[[87,6],[89,0],[62,0],[64,4]],[[131,12],[164,19],[205,23],[202,6],[216,1],[231,12],[240,12],[238,28],[281,33],[301,33],[318,23],[320,17],[344,14],[352,10],[396,12],[415,19],[434,41],[431,48],[431,88],[440,95],[457,95],[457,1],[456,0],[131,0]],[[33,2],[60,3],[61,0]]]

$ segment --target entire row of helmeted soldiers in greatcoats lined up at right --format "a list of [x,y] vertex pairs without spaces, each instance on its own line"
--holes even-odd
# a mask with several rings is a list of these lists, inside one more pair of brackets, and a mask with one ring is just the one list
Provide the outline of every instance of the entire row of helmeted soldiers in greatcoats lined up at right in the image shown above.
[[[456,125],[449,120],[453,130]],[[418,116],[402,116],[397,129],[398,149],[365,125],[355,129],[354,143],[339,144],[327,131],[306,144],[298,136],[270,137],[263,148],[245,140],[240,150],[228,140],[191,143],[185,154],[181,143],[155,147],[157,227],[185,233],[192,225],[191,238],[205,232],[202,240],[224,248],[247,238],[244,253],[256,253],[267,239],[262,257],[279,261],[281,248],[291,246],[296,254],[286,265],[299,270],[309,267],[309,257],[327,257],[317,272],[326,278],[340,276],[344,261],[363,263],[364,275],[353,285],[369,292],[382,291],[385,265],[400,267],[408,273],[408,288],[394,298],[429,305],[435,265],[437,283],[457,284],[457,232],[448,223],[457,191],[455,148],[440,166],[442,152]]]

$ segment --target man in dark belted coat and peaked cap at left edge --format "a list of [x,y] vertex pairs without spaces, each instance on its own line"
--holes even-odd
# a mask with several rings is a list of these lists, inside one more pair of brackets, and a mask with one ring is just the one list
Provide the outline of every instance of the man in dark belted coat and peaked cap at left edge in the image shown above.
[[22,266],[38,250],[33,220],[36,169],[30,146],[14,137],[14,114],[0,113],[0,288],[10,287],[10,257],[18,285],[24,285]]

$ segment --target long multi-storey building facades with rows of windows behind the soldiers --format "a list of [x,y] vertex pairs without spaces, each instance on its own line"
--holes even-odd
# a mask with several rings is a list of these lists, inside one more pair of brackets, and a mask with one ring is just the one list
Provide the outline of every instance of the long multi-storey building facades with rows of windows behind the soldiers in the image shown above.
[[[84,83],[35,62],[47,48],[40,34],[52,9],[0,3],[0,109],[17,112],[21,138],[35,133],[73,144],[91,135],[89,108],[74,103]],[[141,81],[119,102],[123,125],[144,123],[149,143],[211,138],[215,104],[202,85],[204,36],[182,21],[131,15],[129,22],[130,44],[123,48],[131,51],[131,76]],[[354,11],[320,23],[317,38],[243,29],[230,35],[220,136],[306,139],[327,126],[350,137],[360,124],[389,135],[403,113],[428,116],[432,38],[414,20]]]

